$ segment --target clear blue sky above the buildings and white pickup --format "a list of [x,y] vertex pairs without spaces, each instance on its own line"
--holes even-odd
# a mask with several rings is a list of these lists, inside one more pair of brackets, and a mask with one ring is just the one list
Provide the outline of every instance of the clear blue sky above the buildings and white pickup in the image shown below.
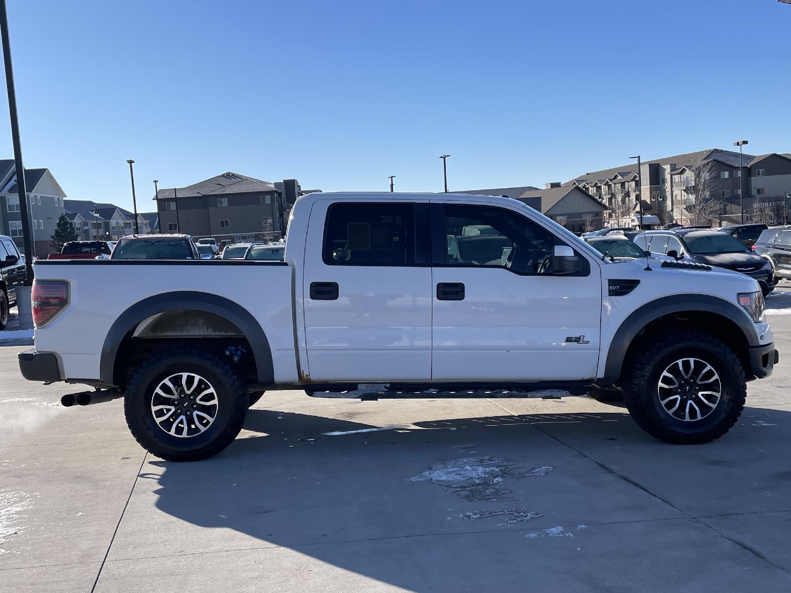
[[441,191],[441,153],[453,190],[740,138],[791,152],[774,0],[8,3],[25,165],[70,198],[131,207],[127,158],[146,211],[154,178],[229,170]]

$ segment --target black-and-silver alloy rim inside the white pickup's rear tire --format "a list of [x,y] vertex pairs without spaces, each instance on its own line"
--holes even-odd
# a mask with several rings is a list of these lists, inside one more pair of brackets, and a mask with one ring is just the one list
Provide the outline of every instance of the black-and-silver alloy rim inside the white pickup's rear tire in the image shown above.
[[180,372],[162,380],[151,396],[151,414],[172,436],[189,438],[208,429],[217,417],[214,387],[194,372]]

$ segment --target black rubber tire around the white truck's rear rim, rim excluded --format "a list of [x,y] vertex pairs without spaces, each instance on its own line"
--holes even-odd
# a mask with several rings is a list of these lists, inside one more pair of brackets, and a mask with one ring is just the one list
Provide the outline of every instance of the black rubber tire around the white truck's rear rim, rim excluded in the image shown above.
[[[161,380],[180,372],[206,378],[218,399],[212,424],[187,438],[165,432],[151,411],[153,390]],[[233,442],[244,425],[248,404],[248,390],[227,361],[205,350],[173,348],[154,354],[134,372],[123,411],[132,436],[146,451],[168,461],[198,461],[217,455]]]

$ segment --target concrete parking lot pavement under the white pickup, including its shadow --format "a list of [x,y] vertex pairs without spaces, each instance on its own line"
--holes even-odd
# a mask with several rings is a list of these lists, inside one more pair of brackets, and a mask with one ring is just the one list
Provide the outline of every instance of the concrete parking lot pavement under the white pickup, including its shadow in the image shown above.
[[282,391],[214,459],[166,463],[120,400],[63,408],[2,346],[0,588],[791,591],[786,291],[774,375],[693,447],[591,398]]

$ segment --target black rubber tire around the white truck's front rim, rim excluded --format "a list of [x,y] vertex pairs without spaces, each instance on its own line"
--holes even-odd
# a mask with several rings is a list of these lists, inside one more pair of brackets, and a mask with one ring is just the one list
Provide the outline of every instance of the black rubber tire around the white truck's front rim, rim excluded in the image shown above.
[[[661,406],[657,394],[661,373],[682,357],[705,361],[720,377],[717,406],[697,421],[672,417]],[[672,444],[703,444],[720,438],[736,424],[747,397],[739,357],[724,342],[698,330],[671,330],[645,340],[625,362],[621,387],[634,421],[645,432]]]

